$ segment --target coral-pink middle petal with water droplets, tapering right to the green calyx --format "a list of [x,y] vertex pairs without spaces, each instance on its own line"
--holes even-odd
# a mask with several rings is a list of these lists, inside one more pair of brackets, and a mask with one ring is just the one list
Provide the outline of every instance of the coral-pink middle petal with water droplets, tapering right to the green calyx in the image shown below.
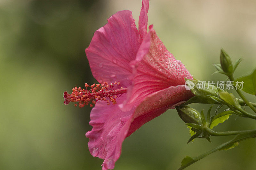
[[[149,41],[148,53],[143,56]],[[131,63],[134,67],[133,84],[128,89],[128,99],[123,105],[119,105],[124,111],[138,106],[145,97],[156,91],[184,85],[184,78],[192,79],[185,66],[165,48],[152,27],[144,38],[136,59]]]

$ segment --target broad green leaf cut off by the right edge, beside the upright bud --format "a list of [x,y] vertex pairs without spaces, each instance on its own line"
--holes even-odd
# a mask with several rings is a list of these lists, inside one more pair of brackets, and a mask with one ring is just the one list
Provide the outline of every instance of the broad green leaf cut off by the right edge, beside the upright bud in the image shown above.
[[243,90],[246,93],[256,95],[256,68],[252,72],[237,78],[236,81],[238,82],[244,81],[243,89],[241,90]]

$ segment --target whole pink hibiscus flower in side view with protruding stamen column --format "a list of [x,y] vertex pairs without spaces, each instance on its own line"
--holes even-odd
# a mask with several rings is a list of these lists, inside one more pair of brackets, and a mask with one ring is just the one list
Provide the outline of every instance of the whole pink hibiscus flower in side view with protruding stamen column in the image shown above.
[[94,33],[85,53],[100,84],[64,92],[65,104],[95,104],[86,137],[92,156],[105,159],[103,170],[114,168],[126,137],[193,97],[185,89],[184,78],[192,79],[188,70],[165,48],[153,25],[147,32],[148,5],[142,0],[138,29],[132,12],[124,10]]

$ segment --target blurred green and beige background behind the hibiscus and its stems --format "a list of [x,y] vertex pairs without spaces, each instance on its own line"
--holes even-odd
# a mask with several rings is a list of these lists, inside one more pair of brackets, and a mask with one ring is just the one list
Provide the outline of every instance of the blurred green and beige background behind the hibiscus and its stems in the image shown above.
[[[90,155],[85,137],[91,108],[64,105],[63,91],[95,82],[84,53],[93,33],[120,10],[131,10],[138,21],[140,8],[140,0],[0,0],[0,169],[101,169],[103,160]],[[221,47],[233,61],[244,56],[236,76],[256,65],[254,0],[151,0],[148,18],[197,79],[226,79],[212,75]],[[253,128],[255,121],[231,116],[216,130]],[[189,137],[169,110],[124,141],[115,169],[177,169],[186,155],[198,156],[230,138],[187,145]],[[255,144],[241,142],[187,169],[253,170]]]

